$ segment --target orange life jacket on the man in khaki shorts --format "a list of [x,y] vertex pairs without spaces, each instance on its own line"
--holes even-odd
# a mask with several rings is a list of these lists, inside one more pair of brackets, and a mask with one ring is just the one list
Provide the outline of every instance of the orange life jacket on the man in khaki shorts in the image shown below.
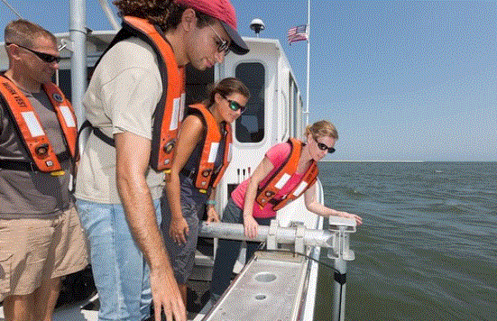
[[[70,156],[76,159],[78,125],[72,105],[60,88],[54,84],[43,84],[41,87],[49,97],[59,119]],[[29,99],[10,79],[4,76],[0,77],[0,94],[4,98],[6,109],[12,116],[17,132],[37,170],[51,172],[52,175],[63,174],[60,161],[53,151],[51,142],[41,126],[40,117]],[[36,168],[32,168],[32,170],[36,170]]]

